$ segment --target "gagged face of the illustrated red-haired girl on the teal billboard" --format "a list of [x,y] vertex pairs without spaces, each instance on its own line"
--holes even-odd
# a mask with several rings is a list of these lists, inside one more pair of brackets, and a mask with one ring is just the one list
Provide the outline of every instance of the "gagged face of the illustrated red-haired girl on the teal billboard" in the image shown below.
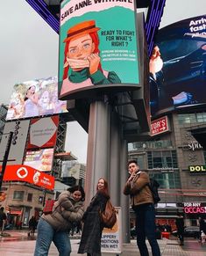
[[70,40],[67,52],[69,66],[74,70],[81,70],[88,67],[88,57],[94,52],[94,49],[95,44],[89,33]]

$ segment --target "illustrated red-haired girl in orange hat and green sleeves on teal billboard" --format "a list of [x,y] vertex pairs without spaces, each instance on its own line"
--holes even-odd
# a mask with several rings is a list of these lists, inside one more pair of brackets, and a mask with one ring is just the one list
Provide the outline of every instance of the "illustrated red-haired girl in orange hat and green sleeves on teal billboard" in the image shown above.
[[115,72],[102,69],[98,30],[95,20],[88,20],[67,31],[60,96],[90,85],[121,83]]

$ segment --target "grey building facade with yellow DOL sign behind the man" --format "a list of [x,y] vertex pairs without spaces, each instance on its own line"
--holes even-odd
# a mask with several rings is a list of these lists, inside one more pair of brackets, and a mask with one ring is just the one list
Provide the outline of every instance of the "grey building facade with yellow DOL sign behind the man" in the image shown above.
[[174,226],[176,214],[184,212],[186,223],[195,224],[198,216],[206,217],[206,151],[191,130],[206,127],[206,113],[177,112],[164,118],[167,129],[156,122],[150,140],[129,144],[128,157],[137,159],[141,170],[160,183],[157,222]]

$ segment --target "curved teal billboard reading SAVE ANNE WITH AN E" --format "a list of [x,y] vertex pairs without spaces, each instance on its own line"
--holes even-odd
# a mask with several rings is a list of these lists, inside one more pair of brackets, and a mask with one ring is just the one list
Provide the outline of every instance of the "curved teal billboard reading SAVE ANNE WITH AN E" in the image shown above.
[[114,87],[122,91],[137,89],[136,23],[134,0],[63,1],[60,5],[59,98],[91,97],[96,90],[105,93],[105,88],[107,91]]

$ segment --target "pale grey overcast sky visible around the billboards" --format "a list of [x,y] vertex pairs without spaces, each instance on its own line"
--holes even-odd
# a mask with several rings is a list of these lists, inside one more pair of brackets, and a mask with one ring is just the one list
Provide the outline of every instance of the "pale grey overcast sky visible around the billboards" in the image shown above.
[[[167,0],[161,26],[205,13],[205,0]],[[1,1],[0,20],[0,103],[9,104],[14,84],[57,76],[58,34],[25,0]],[[87,134],[76,122],[67,124],[66,150],[86,163]]]

